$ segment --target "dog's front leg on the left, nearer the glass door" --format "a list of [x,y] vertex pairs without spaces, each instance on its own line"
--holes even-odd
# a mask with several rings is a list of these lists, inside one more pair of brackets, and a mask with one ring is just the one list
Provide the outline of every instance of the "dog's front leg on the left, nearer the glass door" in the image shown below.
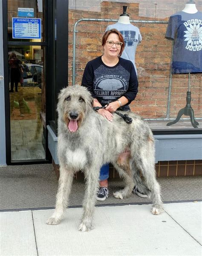
[[60,178],[56,196],[56,206],[53,215],[46,221],[46,224],[56,225],[63,218],[64,211],[68,205],[69,194],[72,187],[73,171],[60,167]]

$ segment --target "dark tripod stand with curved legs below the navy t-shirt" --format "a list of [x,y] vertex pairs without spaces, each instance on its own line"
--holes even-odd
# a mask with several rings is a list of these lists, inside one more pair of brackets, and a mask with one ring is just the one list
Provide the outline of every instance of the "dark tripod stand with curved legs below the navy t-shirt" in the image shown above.
[[194,119],[194,112],[193,108],[191,107],[191,92],[190,92],[190,73],[189,73],[189,84],[188,84],[188,91],[187,91],[187,97],[186,97],[186,106],[185,108],[180,109],[180,111],[177,114],[176,119],[173,122],[167,123],[167,126],[173,125],[176,122],[179,121],[182,115],[190,116],[191,124],[194,128],[198,128],[197,125],[199,125],[198,122]]

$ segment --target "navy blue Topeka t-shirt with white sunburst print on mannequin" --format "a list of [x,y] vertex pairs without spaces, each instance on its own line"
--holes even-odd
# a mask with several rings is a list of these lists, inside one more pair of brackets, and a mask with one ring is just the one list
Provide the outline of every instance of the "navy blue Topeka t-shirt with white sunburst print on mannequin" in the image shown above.
[[165,38],[174,40],[172,74],[202,73],[202,12],[170,16]]

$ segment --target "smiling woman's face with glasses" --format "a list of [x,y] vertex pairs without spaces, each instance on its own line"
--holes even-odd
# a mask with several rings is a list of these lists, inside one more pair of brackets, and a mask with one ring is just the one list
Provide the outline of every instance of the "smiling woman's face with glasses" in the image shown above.
[[[108,36],[107,41],[113,41],[114,43],[116,43],[116,42],[120,42],[120,39],[117,34],[111,33]],[[104,56],[117,58],[121,51],[121,47],[118,48],[118,47],[116,47],[115,44],[113,44],[113,46],[109,46],[107,44],[107,41],[104,44]]]

